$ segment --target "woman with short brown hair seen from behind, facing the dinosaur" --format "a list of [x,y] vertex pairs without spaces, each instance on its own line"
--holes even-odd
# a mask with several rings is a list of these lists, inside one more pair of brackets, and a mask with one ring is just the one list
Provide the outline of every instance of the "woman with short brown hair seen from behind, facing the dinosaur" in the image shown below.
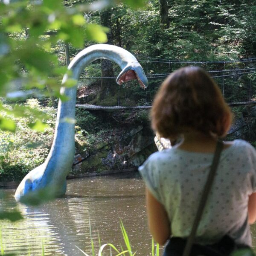
[[[189,236],[217,140],[230,129],[232,114],[211,77],[200,67],[185,67],[163,82],[151,119],[161,137],[182,137],[139,168],[151,234],[165,244],[171,236]],[[229,235],[251,246],[249,224],[255,220],[256,151],[243,140],[224,142],[195,243],[215,244]]]

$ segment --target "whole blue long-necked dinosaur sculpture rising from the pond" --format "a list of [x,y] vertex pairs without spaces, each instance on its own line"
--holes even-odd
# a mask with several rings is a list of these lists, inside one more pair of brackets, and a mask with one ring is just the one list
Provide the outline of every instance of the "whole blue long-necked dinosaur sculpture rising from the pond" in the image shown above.
[[[105,58],[115,61],[122,71],[116,79],[117,84],[137,79],[140,86],[145,88],[148,80],[143,68],[137,59],[125,49],[108,44],[96,44],[79,52],[71,61],[68,70],[72,71],[70,76],[78,81],[84,67],[91,62]],[[69,78],[65,74],[62,84]],[[75,155],[75,108],[76,89],[73,87],[61,87],[60,93],[69,97],[69,100],[59,100],[55,135],[52,148],[46,161],[29,172],[21,181],[15,192],[15,198],[20,200],[23,195],[44,188],[54,189],[55,196],[64,195],[66,192],[66,177],[70,171]]]

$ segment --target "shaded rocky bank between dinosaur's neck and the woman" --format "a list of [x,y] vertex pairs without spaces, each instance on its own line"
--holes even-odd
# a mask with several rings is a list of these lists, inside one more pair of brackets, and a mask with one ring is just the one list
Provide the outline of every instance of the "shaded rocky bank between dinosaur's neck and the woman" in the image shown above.
[[132,125],[112,141],[95,145],[90,153],[76,147],[71,176],[138,167],[155,151],[154,133],[149,124]]

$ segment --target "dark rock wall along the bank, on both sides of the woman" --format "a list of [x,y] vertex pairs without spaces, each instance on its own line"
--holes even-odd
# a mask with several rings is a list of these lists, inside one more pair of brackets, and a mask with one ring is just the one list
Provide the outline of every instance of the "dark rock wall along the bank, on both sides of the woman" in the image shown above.
[[[256,145],[256,106],[233,108],[233,111],[234,122],[227,140],[243,139]],[[113,117],[114,120],[118,119]],[[148,119],[138,122],[138,119],[128,116],[125,120],[119,118],[117,121],[122,125],[116,131],[109,131],[113,133],[112,139],[96,143],[93,150],[84,151],[76,143],[71,176],[138,167],[150,154],[157,151]]]

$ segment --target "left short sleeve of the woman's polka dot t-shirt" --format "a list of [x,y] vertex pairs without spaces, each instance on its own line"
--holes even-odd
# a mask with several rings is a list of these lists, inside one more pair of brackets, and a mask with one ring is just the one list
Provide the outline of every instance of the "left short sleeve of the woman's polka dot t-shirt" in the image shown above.
[[152,193],[152,195],[161,202],[160,186],[159,186],[159,171],[157,169],[157,161],[154,157],[149,157],[142,166],[139,167],[140,175]]

